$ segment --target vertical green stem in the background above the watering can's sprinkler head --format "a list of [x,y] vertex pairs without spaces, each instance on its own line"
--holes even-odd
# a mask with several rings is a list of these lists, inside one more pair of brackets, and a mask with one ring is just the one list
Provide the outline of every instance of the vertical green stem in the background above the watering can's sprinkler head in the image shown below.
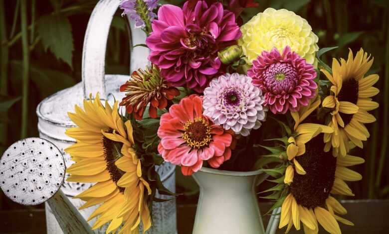
[[27,136],[28,117],[28,76],[29,76],[29,47],[27,32],[27,0],[20,2],[21,42],[23,51],[23,76],[22,76],[22,100],[21,100],[21,131],[20,138]]

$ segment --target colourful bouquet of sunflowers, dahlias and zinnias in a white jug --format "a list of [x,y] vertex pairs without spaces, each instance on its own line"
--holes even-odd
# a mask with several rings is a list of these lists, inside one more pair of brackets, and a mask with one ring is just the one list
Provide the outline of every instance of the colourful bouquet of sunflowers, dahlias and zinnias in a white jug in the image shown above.
[[[242,10],[255,6],[121,1],[147,34],[139,46],[150,49],[151,65],[131,74],[113,106],[98,94],[76,106],[69,117],[78,127],[66,131],[77,141],[65,150],[76,162],[68,181],[96,183],[77,196],[81,209],[100,204],[94,229],[138,233],[142,223],[147,231],[151,204],[164,202],[156,193],[177,196],[156,173],[164,162],[200,184],[194,233],[236,233],[237,222],[240,233],[263,233],[254,187],[266,178],[276,184],[260,188],[275,202],[272,226],[311,234],[320,224],[338,234],[338,222],[353,225],[334,196],[353,196],[345,181],[362,178],[347,167],[364,162],[349,151],[363,147],[364,124],[376,120],[368,111],[378,108],[379,77],[366,75],[373,59],[350,50],[330,67],[321,55],[336,47],[319,50],[292,11],[268,8],[242,24]],[[235,222],[226,217],[234,213]]]

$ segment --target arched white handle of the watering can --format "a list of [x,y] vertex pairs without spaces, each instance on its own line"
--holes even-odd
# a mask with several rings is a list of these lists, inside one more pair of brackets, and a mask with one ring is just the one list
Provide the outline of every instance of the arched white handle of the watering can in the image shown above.
[[[99,0],[89,18],[86,28],[84,47],[82,53],[82,82],[84,97],[89,98],[89,94],[96,95],[105,99],[105,53],[107,48],[107,39],[109,28],[113,15],[118,9],[120,0]],[[145,43],[146,34],[139,28],[135,28],[134,23],[130,22],[131,29],[131,56],[130,71],[138,67],[145,66],[148,61],[149,50],[145,47],[135,47],[135,44]]]

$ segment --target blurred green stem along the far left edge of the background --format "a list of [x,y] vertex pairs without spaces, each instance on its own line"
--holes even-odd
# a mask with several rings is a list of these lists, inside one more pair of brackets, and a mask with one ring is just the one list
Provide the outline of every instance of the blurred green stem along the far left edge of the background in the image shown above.
[[[5,23],[5,7],[4,0],[0,0],[0,41],[7,39],[6,23]],[[0,45],[0,94],[7,95],[8,93],[8,47]],[[0,113],[0,118],[6,119],[7,113]],[[5,121],[0,122],[0,153],[2,153],[6,145],[7,139],[7,124]]]

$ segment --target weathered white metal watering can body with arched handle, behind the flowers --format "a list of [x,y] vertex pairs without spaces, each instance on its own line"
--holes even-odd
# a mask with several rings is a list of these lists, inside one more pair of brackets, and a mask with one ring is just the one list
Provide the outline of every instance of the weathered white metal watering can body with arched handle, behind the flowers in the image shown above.
[[[107,99],[111,105],[114,99],[121,100],[124,97],[124,93],[119,92],[119,87],[129,79],[129,76],[105,75],[105,54],[108,33],[113,15],[117,11],[119,4],[120,0],[100,0],[91,14],[84,39],[82,82],[44,99],[36,109],[40,137],[53,142],[62,151],[66,167],[69,167],[73,162],[70,159],[70,155],[66,154],[63,149],[75,143],[74,139],[65,135],[66,128],[75,126],[67,113],[74,112],[74,105],[82,107],[83,99],[88,98],[89,94],[95,95],[99,92],[101,99]],[[133,22],[130,22],[130,28],[130,72],[132,73],[138,68],[144,68],[149,63],[147,60],[149,50],[140,46],[132,47],[136,44],[145,43],[146,34],[141,29],[135,28]],[[164,163],[157,169],[157,172],[160,174],[165,187],[174,192],[175,166],[170,163]],[[92,186],[90,183],[67,182],[66,178],[67,175],[65,176],[65,182],[61,190],[69,198]],[[157,196],[162,199],[171,198],[165,195],[159,195],[158,193]],[[83,205],[80,199],[70,199],[70,201],[76,208]],[[50,207],[46,204],[45,208],[47,233],[60,234],[60,226],[53,216]],[[88,218],[95,209],[96,207],[90,207],[81,210],[80,213],[84,218]],[[154,203],[152,213],[153,226],[148,233],[177,233],[175,199],[164,203]],[[91,220],[90,224],[94,222],[95,220]],[[105,233],[104,229],[106,228],[103,227],[96,231],[96,233]]]

